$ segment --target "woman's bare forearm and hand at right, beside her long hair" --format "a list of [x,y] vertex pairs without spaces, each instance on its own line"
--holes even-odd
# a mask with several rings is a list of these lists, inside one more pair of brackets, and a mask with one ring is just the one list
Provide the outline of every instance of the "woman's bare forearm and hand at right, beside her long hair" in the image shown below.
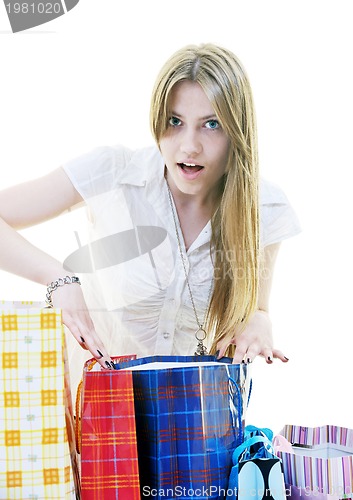
[[269,299],[274,266],[280,244],[269,245],[264,249],[262,265],[260,266],[258,310],[249,319],[241,333],[236,333],[229,340],[218,343],[219,357],[222,357],[230,344],[236,345],[234,363],[250,363],[256,356],[263,356],[267,363],[274,358],[287,362],[288,358],[273,347],[272,324],[268,314]]

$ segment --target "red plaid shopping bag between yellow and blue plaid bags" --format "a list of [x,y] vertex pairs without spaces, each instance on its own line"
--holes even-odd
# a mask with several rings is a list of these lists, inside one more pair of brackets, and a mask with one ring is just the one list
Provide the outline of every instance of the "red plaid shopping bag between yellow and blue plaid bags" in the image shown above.
[[[114,361],[136,356],[112,358]],[[139,500],[134,393],[130,372],[85,363],[76,411],[82,500]]]

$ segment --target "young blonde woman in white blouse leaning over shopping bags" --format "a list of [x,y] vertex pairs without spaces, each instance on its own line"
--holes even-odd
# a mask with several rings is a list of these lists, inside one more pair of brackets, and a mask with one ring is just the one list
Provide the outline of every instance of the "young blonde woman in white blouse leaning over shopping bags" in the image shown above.
[[[2,192],[0,266],[51,283],[75,345],[104,368],[111,355],[206,347],[235,363],[287,361],[268,302],[280,241],[299,227],[282,191],[259,181],[251,89],[234,54],[212,44],[174,54],[151,127],[155,147],[98,148]],[[81,249],[62,264],[16,232],[82,201],[89,258]]]

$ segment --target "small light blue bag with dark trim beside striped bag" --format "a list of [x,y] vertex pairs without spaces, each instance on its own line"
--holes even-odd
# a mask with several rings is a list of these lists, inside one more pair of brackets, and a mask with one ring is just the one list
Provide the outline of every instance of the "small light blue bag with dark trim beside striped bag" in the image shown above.
[[227,500],[285,499],[281,460],[272,438],[271,429],[246,426],[244,442],[233,453]]

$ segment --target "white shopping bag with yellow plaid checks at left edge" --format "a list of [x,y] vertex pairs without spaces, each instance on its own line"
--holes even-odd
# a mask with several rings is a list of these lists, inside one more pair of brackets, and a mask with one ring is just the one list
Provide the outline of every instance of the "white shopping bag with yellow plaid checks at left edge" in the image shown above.
[[60,310],[0,301],[0,499],[78,499],[73,428]]

